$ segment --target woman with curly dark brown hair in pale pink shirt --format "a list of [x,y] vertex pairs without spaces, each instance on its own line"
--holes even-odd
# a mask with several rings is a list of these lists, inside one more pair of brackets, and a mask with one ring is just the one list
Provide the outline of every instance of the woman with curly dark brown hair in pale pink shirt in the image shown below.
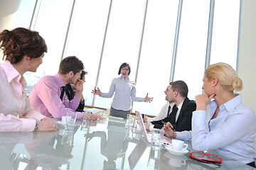
[[36,31],[16,28],[0,33],[0,48],[0,132],[58,130],[52,119],[33,109],[24,90],[23,74],[36,72],[47,52],[46,42]]

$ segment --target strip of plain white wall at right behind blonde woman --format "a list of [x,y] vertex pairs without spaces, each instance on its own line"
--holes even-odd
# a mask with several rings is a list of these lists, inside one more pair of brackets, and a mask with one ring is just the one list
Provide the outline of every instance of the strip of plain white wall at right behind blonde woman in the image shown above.
[[238,76],[244,88],[242,101],[256,113],[256,1],[242,0],[240,18],[240,43],[238,52]]

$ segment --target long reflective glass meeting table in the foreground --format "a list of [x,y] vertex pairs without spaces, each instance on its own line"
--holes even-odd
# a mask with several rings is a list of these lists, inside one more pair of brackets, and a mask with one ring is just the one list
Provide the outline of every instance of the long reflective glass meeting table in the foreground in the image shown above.
[[192,160],[189,142],[183,155],[156,149],[125,119],[55,123],[56,132],[1,132],[0,169],[253,169],[221,154],[221,166]]

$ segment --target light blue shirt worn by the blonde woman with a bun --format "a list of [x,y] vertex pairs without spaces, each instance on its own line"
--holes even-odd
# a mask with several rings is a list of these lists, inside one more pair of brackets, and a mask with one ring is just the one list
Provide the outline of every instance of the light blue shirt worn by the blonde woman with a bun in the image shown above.
[[[209,103],[207,111],[193,111],[192,131],[177,132],[177,139],[192,139],[193,149],[204,151],[218,149],[223,155],[248,164],[255,161],[256,118],[251,108],[242,103],[240,95],[220,106]],[[207,114],[210,114],[208,116]],[[208,125],[206,124],[208,123]]]

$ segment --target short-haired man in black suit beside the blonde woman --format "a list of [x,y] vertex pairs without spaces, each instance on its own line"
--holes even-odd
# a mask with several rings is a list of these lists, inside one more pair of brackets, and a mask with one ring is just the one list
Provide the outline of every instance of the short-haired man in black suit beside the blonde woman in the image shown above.
[[181,80],[171,82],[164,93],[166,94],[166,100],[174,102],[175,105],[166,118],[153,121],[151,122],[152,125],[145,123],[146,130],[151,130],[151,128],[161,129],[164,123],[167,122],[170,122],[174,130],[178,132],[191,130],[192,112],[196,111],[196,102],[188,99],[188,86],[186,83]]

